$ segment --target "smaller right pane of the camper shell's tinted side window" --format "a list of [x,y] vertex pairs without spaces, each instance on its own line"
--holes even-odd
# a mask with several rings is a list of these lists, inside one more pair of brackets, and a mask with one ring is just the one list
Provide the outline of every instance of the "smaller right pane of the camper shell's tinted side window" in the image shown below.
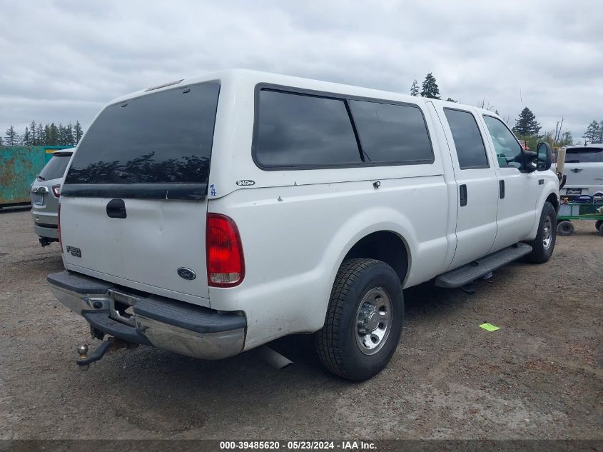
[[368,162],[433,163],[427,125],[418,106],[350,101]]

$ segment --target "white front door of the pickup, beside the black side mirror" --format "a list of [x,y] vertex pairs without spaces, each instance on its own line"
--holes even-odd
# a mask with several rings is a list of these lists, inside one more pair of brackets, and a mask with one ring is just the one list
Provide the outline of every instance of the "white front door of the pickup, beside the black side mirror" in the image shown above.
[[487,146],[495,159],[499,185],[497,235],[491,253],[522,241],[534,226],[539,192],[538,173],[522,172],[522,146],[509,128],[495,116],[482,116],[487,127]]

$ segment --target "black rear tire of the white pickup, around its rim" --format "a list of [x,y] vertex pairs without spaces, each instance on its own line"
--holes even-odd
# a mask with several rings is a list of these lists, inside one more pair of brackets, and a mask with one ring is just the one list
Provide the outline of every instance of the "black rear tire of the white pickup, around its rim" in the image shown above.
[[[363,302],[363,300],[370,300],[375,293],[385,293],[383,298],[389,297],[390,331],[381,339],[383,343],[378,346],[379,348],[375,346],[374,354],[365,354],[368,348],[363,347],[365,350],[363,353],[358,343],[363,337],[359,333],[358,316],[362,315],[361,304],[363,309],[372,306],[370,301]],[[375,300],[382,300],[382,298],[376,296]],[[384,308],[382,312],[385,311],[387,310]],[[370,313],[368,318],[365,318],[367,324],[374,323],[371,323],[370,317],[379,318],[378,313],[373,314]],[[315,345],[320,361],[329,371],[348,380],[364,381],[377,375],[387,366],[395,352],[400,341],[403,318],[402,284],[393,268],[385,262],[374,259],[354,258],[344,261],[335,277],[325,325],[316,333]],[[382,323],[379,323],[377,328],[381,327]],[[383,327],[382,331],[387,328],[387,326]],[[374,337],[373,333],[367,333],[367,336],[370,340]],[[370,346],[373,346],[373,343]]]

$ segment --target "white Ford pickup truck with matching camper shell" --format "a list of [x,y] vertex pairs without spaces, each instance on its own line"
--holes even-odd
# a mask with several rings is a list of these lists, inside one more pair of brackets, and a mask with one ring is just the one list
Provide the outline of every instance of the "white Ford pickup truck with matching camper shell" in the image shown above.
[[216,359],[315,333],[330,371],[364,380],[397,347],[402,288],[549,259],[550,165],[472,106],[244,70],[176,81],[83,136],[48,281],[96,338]]

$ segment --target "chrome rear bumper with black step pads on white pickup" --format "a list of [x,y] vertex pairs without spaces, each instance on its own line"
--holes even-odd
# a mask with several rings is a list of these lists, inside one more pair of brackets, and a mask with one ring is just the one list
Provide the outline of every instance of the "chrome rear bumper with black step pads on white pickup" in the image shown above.
[[[98,331],[201,359],[243,350],[247,321],[161,296],[141,296],[113,283],[71,271],[47,277],[54,296]],[[123,308],[131,306],[131,316]]]

